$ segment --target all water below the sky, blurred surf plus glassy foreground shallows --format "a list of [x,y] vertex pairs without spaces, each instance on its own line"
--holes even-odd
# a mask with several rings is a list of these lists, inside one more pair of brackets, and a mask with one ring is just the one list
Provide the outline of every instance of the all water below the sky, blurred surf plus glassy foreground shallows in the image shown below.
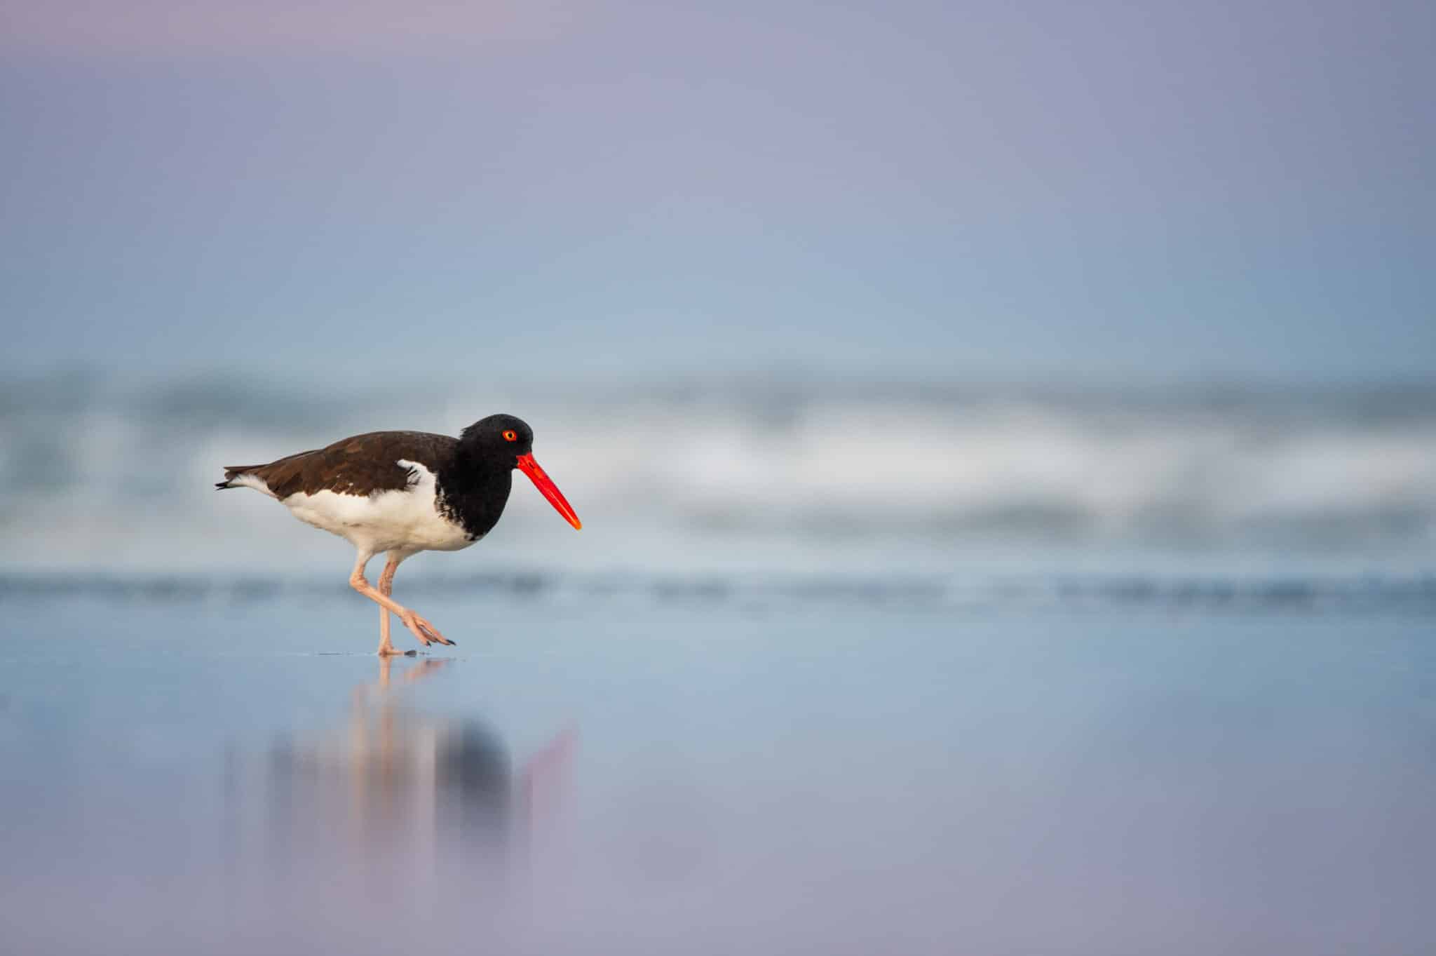
[[[0,411],[0,952],[1436,947],[1433,389]],[[211,487],[494,411],[584,530],[520,479],[408,561],[442,655],[373,657],[348,545]]]

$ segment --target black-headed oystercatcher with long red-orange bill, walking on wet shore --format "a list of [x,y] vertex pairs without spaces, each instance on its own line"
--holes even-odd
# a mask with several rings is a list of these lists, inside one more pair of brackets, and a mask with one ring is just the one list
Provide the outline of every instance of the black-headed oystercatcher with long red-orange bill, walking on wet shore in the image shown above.
[[[277,498],[316,528],[355,545],[349,586],[379,604],[379,656],[389,643],[389,611],[428,647],[454,642],[389,594],[404,558],[419,551],[458,551],[488,534],[504,514],[514,468],[582,528],[579,515],[533,455],[534,432],[513,415],[490,415],[458,438],[428,432],[369,432],[267,465],[224,469],[215,488],[254,488]],[[375,554],[389,560],[373,587],[363,576]]]

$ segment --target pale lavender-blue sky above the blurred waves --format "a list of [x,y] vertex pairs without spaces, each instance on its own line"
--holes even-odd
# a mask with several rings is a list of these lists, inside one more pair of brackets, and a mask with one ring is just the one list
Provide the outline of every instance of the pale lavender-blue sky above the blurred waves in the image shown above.
[[0,369],[1436,373],[1436,4],[0,0]]

